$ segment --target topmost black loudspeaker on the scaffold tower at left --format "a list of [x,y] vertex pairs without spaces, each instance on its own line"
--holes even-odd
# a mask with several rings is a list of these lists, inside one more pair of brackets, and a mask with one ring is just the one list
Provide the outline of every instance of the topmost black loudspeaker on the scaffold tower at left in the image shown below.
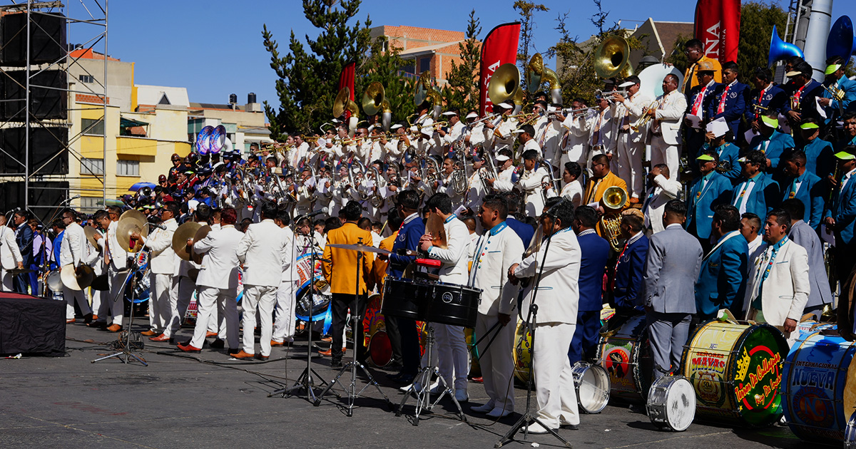
[[30,64],[65,61],[66,19],[61,14],[33,12],[30,14],[30,36],[27,39],[27,13],[3,15],[0,18],[0,64],[27,65],[27,42],[30,44]]

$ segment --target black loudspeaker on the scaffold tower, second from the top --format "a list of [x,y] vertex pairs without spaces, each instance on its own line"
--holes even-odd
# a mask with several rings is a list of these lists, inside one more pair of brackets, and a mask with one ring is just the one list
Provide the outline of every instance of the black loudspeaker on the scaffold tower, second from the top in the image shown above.
[[[0,108],[0,119],[24,121],[24,101],[27,99],[27,71],[9,70],[3,76],[3,92],[6,101]],[[45,86],[45,87],[37,87]],[[51,88],[49,88],[51,87]],[[45,70],[34,73],[30,79],[30,114],[31,117],[45,119],[62,119],[68,117],[68,74],[63,70]]]

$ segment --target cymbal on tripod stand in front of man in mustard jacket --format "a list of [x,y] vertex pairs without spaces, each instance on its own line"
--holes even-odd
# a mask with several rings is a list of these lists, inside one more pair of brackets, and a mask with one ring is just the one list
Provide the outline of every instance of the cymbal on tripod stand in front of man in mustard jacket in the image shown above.
[[[373,248],[371,246],[364,246],[363,245],[363,239],[361,237],[360,237],[360,240],[357,243],[357,245],[336,245],[336,244],[328,244],[328,245],[330,245],[332,247],[348,249],[351,251],[357,251],[357,279],[356,279],[357,286],[356,286],[356,290],[354,293],[354,305],[351,309],[351,329],[354,333],[354,358],[350,362],[346,363],[345,366],[343,366],[342,369],[339,370],[339,374],[336,375],[336,377],[333,378],[332,381],[330,381],[330,385],[328,385],[326,388],[324,388],[324,391],[321,392],[321,394],[318,396],[318,399],[315,399],[315,405],[316,406],[320,405],[321,399],[324,399],[324,395],[326,395],[328,392],[330,392],[330,390],[333,387],[335,387],[337,383],[339,383],[339,379],[342,377],[342,375],[345,374],[346,371],[350,371],[351,372],[351,383],[350,383],[350,385],[348,385],[348,388],[343,387],[342,389],[345,391],[345,393],[348,393],[348,408],[347,408],[346,414],[348,415],[348,417],[353,417],[354,416],[354,402],[356,401],[357,398],[360,397],[360,394],[362,394],[364,391],[366,391],[366,388],[368,388],[370,386],[374,386],[375,388],[377,388],[377,393],[380,393],[380,395],[383,396],[383,399],[386,400],[386,404],[391,405],[389,398],[386,396],[386,394],[383,393],[383,390],[380,389],[380,385],[377,384],[377,381],[374,380],[374,377],[372,377],[372,373],[370,373],[369,370],[366,369],[366,366],[363,365],[363,363],[357,359],[358,348],[360,347],[360,345],[362,345],[362,342],[360,341],[360,339],[357,338],[358,336],[361,336],[361,333],[357,330],[358,329],[357,326],[362,326],[362,322],[361,322],[362,316],[360,316],[360,263],[362,263],[363,257],[366,257],[363,255],[364,251],[372,251],[372,252],[378,252],[378,251],[377,251],[377,248]],[[333,304],[330,304],[330,307],[332,307],[332,306],[333,306]],[[334,348],[334,349],[338,350],[338,348]],[[366,377],[368,377],[368,379],[369,379],[368,382],[366,383],[366,385],[364,387],[362,387],[362,389],[360,389],[359,392],[357,391],[357,368],[362,369],[363,374],[365,374]]]

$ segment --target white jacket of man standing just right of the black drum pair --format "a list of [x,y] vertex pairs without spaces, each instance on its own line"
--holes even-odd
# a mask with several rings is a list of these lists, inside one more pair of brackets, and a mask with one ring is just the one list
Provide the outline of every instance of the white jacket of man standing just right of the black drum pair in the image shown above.
[[[503,226],[504,222],[497,226]],[[480,288],[479,313],[496,316],[514,315],[517,309],[517,287],[508,281],[508,269],[520,263],[523,241],[514,229],[503,226],[496,235],[485,231],[474,246],[473,269],[470,270],[470,287]]]

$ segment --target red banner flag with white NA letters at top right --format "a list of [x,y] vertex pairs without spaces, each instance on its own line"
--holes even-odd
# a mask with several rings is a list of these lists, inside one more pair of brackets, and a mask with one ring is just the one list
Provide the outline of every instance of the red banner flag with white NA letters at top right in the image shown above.
[[704,44],[704,56],[737,62],[740,44],[740,0],[698,0],[695,37]]

